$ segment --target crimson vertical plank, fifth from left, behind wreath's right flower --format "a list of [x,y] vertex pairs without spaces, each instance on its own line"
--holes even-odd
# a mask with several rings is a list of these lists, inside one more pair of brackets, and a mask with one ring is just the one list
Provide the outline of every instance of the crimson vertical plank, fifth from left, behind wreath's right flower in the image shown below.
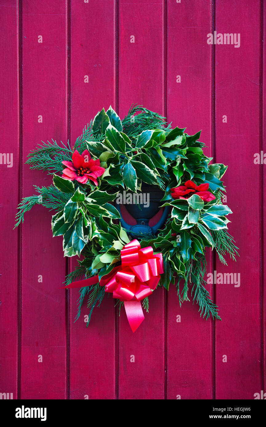
[[[167,2],[167,119],[186,127],[189,135],[202,129],[200,140],[212,153],[212,28],[211,1]],[[180,76],[180,82],[177,82]],[[212,271],[207,251],[207,271]],[[207,286],[210,295],[211,285]],[[181,321],[177,323],[177,315]],[[212,325],[200,318],[190,301],[179,306],[172,285],[168,293],[167,398],[212,398]]]

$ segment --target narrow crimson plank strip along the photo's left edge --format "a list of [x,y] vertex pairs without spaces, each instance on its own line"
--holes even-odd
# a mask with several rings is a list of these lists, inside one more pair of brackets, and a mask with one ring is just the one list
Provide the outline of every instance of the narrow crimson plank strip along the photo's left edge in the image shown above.
[[[0,171],[8,185],[0,189],[0,392],[17,398],[18,375],[18,230],[13,230],[18,202],[18,11],[16,0],[0,4]],[[8,152],[8,158],[6,155]],[[12,157],[11,156],[12,153]],[[12,162],[10,163],[12,159]],[[9,165],[6,163],[8,160]],[[12,397],[11,397],[12,393]]]

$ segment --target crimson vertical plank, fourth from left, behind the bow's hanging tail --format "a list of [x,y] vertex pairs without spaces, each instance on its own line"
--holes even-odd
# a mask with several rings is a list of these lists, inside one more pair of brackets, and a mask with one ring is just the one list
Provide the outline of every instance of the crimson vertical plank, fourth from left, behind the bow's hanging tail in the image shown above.
[[[164,2],[119,1],[119,115],[132,103],[163,114]],[[134,42],[133,41],[134,37]],[[119,319],[118,398],[164,399],[164,292],[151,296],[149,313],[132,333]],[[133,360],[132,355],[135,357]]]

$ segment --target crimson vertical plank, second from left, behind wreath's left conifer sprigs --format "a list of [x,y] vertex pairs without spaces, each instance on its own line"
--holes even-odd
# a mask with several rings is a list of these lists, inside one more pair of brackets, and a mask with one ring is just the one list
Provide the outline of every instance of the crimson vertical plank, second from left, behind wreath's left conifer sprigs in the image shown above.
[[[66,140],[65,64],[65,2],[24,0],[24,161],[41,140]],[[23,196],[35,193],[33,184],[50,183],[50,176],[24,165]],[[46,208],[36,206],[26,215],[22,227],[21,398],[64,399],[65,295],[59,289],[65,278],[62,238],[53,239],[51,212]],[[38,362],[40,356],[42,362]]]

